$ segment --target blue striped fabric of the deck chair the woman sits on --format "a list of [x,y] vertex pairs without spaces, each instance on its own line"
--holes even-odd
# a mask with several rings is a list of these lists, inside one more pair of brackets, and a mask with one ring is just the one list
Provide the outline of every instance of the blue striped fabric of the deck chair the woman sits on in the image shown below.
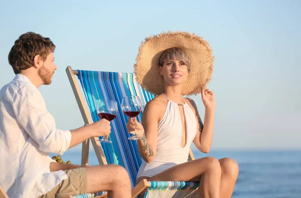
[[[137,120],[141,122],[144,106],[154,98],[154,95],[142,89],[136,82],[133,73],[77,71],[94,122],[100,119],[96,110],[99,99],[117,101],[118,113],[116,118],[111,121],[111,134],[108,138],[112,143],[101,143],[101,145],[107,163],[123,166],[129,173],[132,186],[135,186],[141,157],[137,150],[137,142],[127,139],[131,134],[126,130],[128,117],[121,110],[121,101],[124,96],[128,95],[138,95],[140,97],[143,107],[141,113],[137,116]],[[152,181],[145,197],[187,197],[188,194],[196,192],[198,187],[199,182]],[[156,195],[158,191],[165,191],[166,195]],[[182,193],[179,195],[179,192]]]

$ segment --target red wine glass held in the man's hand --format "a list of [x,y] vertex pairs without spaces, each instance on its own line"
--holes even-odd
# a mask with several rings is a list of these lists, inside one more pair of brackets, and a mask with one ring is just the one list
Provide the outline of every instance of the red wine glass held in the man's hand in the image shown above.
[[[97,114],[101,119],[106,119],[108,121],[111,121],[115,119],[118,111],[117,102],[113,100],[99,100],[99,104],[97,107]],[[112,141],[105,139],[104,136],[102,136],[101,139],[98,139],[97,141],[104,142],[104,143],[112,143]]]

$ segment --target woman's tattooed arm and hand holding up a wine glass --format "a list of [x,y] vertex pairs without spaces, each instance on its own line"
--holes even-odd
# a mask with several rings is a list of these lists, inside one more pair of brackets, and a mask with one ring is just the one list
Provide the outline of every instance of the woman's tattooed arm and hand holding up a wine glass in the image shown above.
[[[149,101],[142,114],[142,124],[136,119],[129,119],[127,122],[128,132],[137,133],[138,151],[140,156],[147,163],[151,162],[157,152],[157,132],[159,122],[159,102],[156,100]],[[136,127],[136,128],[135,128]]]

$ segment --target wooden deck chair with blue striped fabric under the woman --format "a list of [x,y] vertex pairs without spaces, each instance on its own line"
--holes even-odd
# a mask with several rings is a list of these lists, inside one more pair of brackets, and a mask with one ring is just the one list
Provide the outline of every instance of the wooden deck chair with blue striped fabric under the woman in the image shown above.
[[[145,91],[136,82],[133,73],[72,70],[71,66],[66,68],[66,72],[86,124],[100,119],[96,110],[99,99],[117,101],[118,113],[116,118],[111,121],[111,134],[108,138],[112,143],[96,141],[100,137],[90,139],[99,164],[118,164],[128,171],[133,187],[132,197],[136,197],[145,188],[147,190],[144,197],[199,197],[199,182],[147,181],[143,179],[135,185],[142,159],[137,150],[137,142],[127,139],[131,134],[126,130],[128,117],[121,110],[121,101],[127,95],[138,95],[141,98],[143,107],[137,116],[137,120],[141,122],[143,108],[149,100],[154,98],[154,95]],[[86,100],[81,94],[75,75],[78,76]],[[85,102],[90,112],[88,112]],[[89,140],[83,142],[82,164],[88,163],[88,148]],[[189,160],[192,159],[194,156],[190,149]]]

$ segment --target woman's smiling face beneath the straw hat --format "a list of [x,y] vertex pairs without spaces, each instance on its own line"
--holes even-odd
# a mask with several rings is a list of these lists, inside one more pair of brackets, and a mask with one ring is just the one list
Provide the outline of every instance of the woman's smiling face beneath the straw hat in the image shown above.
[[186,81],[188,66],[181,60],[165,60],[163,66],[159,67],[166,85],[177,85]]

